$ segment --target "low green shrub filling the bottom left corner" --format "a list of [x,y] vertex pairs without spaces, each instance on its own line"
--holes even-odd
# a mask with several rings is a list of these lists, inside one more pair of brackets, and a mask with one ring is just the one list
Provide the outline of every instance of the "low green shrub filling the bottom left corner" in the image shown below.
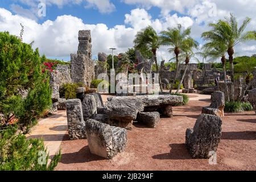
[[[0,171],[53,171],[61,158],[60,151],[47,164],[49,155],[42,139],[27,139],[16,134],[17,127],[0,131]],[[45,152],[42,160],[40,152]],[[45,164],[40,162],[45,161]]]

